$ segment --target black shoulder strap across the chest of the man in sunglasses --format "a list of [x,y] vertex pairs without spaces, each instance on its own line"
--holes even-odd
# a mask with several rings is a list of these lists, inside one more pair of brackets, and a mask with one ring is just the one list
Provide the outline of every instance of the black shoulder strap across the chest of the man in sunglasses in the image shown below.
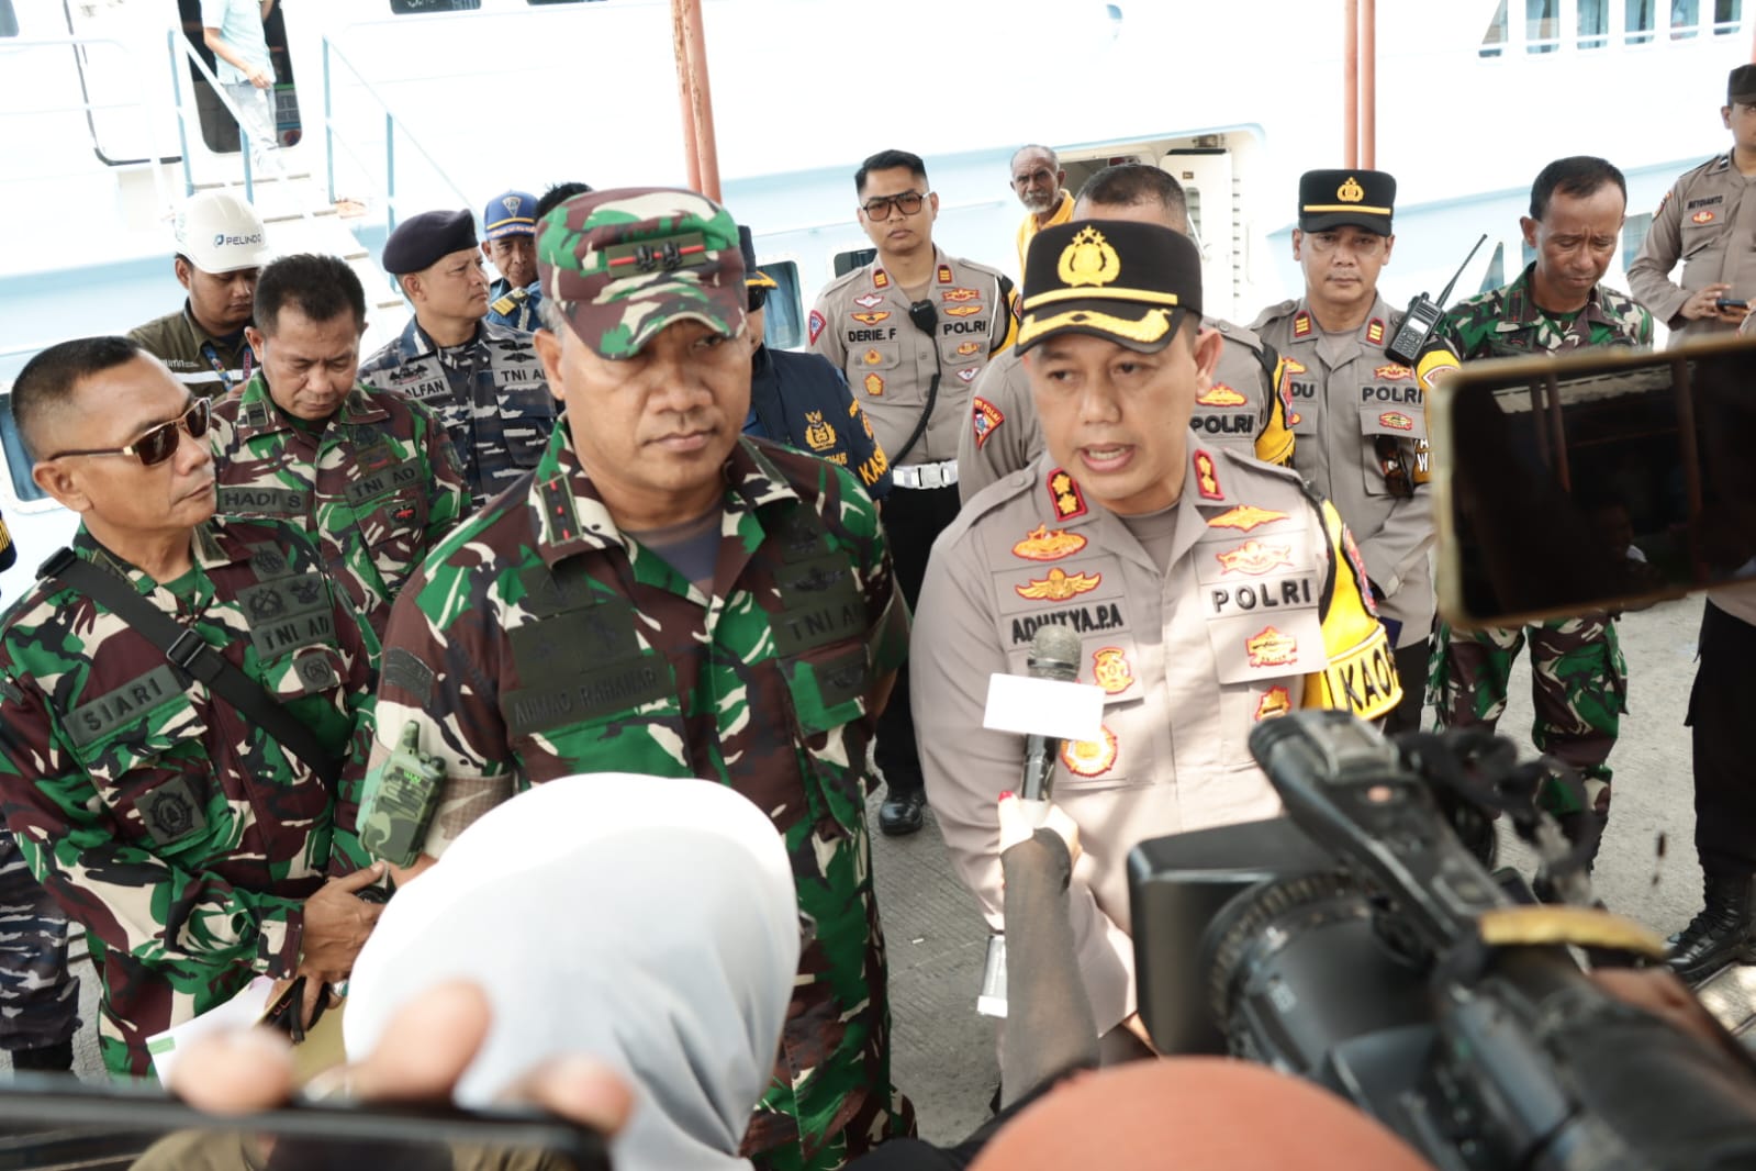
[[341,779],[341,760],[318,744],[311,729],[286,711],[260,683],[207,646],[205,639],[191,627],[179,625],[170,614],[135,593],[128,581],[81,560],[67,548],[42,564],[42,576],[67,583],[139,630],[165,653],[170,665],[184,676],[205,683],[214,695],[237,708],[248,722],[279,741],[281,748],[304,760],[306,767],[323,778],[327,785],[334,787]]

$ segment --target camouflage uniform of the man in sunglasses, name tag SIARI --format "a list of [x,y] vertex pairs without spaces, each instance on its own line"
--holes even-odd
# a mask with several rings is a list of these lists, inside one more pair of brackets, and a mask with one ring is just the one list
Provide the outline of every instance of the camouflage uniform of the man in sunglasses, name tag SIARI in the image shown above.
[[58,581],[39,581],[7,613],[0,813],[32,874],[86,927],[104,985],[104,1064],[144,1076],[148,1036],[256,974],[290,976],[300,902],[325,873],[360,862],[353,823],[378,639],[286,525],[205,521],[195,528],[195,569],[163,585],[84,528],[74,550],[176,614],[346,757],[337,795]]

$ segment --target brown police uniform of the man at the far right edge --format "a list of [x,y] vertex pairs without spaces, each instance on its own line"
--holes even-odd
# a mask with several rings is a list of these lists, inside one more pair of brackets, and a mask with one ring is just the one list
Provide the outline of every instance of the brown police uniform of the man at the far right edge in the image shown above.
[[[1735,325],[1682,316],[1682,302],[1705,284],[1730,284],[1726,297],[1756,298],[1756,177],[1745,179],[1731,154],[1710,158],[1679,177],[1628,265],[1628,288],[1672,330],[1672,341],[1731,334]],[[1670,279],[1682,262],[1682,283]]]

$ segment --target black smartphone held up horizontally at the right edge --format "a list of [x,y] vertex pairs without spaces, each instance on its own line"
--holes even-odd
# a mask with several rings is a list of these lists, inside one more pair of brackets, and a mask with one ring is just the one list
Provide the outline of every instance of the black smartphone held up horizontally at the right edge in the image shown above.
[[1440,611],[1510,627],[1756,581],[1756,339],[1470,362],[1428,397]]

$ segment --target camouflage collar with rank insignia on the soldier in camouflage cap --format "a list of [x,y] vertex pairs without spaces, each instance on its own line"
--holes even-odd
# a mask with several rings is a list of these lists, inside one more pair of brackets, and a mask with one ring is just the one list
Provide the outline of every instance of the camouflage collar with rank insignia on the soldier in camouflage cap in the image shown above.
[[[799,499],[787,478],[746,437],[739,437],[725,460],[723,478],[725,513],[738,518],[736,530],[752,550],[762,542],[764,534],[755,514],[767,506]],[[530,479],[529,507],[537,555],[550,567],[576,553],[625,544],[590,474],[579,465],[565,414],[555,421],[555,434]]]

